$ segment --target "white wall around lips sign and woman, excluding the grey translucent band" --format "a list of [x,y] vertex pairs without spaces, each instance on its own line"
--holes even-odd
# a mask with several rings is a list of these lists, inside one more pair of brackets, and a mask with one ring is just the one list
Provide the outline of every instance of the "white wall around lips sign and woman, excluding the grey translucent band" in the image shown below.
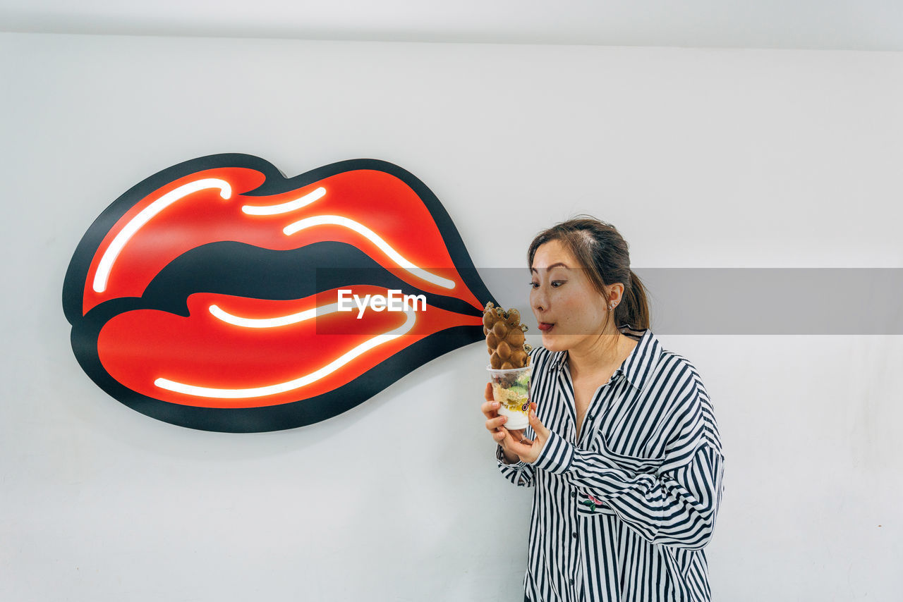
[[[491,458],[480,345],[251,435],[154,421],[81,372],[72,251],[176,162],[396,162],[480,267],[582,211],[638,267],[903,267],[900,53],[2,34],[0,69],[4,600],[521,599],[529,499]],[[526,281],[495,292],[523,307]],[[903,338],[662,338],[724,440],[716,597],[896,599]]]

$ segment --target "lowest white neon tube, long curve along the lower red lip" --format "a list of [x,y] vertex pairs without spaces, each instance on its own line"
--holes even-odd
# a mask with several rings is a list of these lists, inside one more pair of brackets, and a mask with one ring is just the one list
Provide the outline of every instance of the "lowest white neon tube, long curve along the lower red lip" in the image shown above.
[[193,384],[176,383],[175,381],[171,381],[167,378],[158,378],[154,381],[154,384],[162,389],[166,389],[167,391],[172,391],[174,393],[192,395],[195,397],[210,397],[214,399],[247,399],[249,397],[265,397],[267,395],[285,393],[287,391],[299,389],[303,386],[314,383],[320,380],[323,376],[332,374],[341,366],[345,366],[355,357],[367,353],[373,347],[378,347],[383,343],[387,343],[390,340],[401,337],[406,332],[414,328],[414,322],[417,320],[416,314],[413,310],[407,310],[405,311],[405,314],[407,314],[407,320],[399,328],[395,330],[389,330],[388,332],[385,332],[381,335],[369,338],[368,340],[358,345],[358,347],[354,347],[340,357],[337,357],[326,366],[321,367],[319,370],[316,370],[309,375],[303,375],[300,378],[295,378],[294,380],[287,381],[285,383],[270,384],[267,386],[251,387],[247,389],[216,389],[205,386],[194,386]]

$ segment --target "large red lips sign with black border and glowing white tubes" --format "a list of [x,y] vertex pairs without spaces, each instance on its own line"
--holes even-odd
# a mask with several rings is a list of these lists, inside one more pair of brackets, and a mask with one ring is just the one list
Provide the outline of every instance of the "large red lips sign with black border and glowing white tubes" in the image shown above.
[[482,340],[492,300],[408,171],[366,159],[284,178],[245,154],[180,163],[116,199],[62,298],[75,356],[107,394],[233,432],[363,403]]

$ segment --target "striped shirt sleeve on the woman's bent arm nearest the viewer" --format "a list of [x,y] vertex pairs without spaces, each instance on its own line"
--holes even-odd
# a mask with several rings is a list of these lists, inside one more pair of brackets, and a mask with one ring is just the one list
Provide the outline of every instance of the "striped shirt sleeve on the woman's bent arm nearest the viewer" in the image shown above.
[[[655,472],[637,473],[605,449],[578,449],[552,432],[534,463],[564,477],[583,495],[604,501],[647,542],[702,550],[721,505],[724,458],[699,391],[677,404],[675,430]],[[706,398],[707,399],[707,398]]]

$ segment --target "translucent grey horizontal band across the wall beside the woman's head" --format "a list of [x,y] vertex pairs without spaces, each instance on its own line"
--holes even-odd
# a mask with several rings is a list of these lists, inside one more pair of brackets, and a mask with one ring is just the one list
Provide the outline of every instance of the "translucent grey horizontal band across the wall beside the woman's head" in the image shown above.
[[[651,327],[675,335],[903,334],[900,268],[636,268]],[[526,269],[480,268],[506,309],[529,309]]]

